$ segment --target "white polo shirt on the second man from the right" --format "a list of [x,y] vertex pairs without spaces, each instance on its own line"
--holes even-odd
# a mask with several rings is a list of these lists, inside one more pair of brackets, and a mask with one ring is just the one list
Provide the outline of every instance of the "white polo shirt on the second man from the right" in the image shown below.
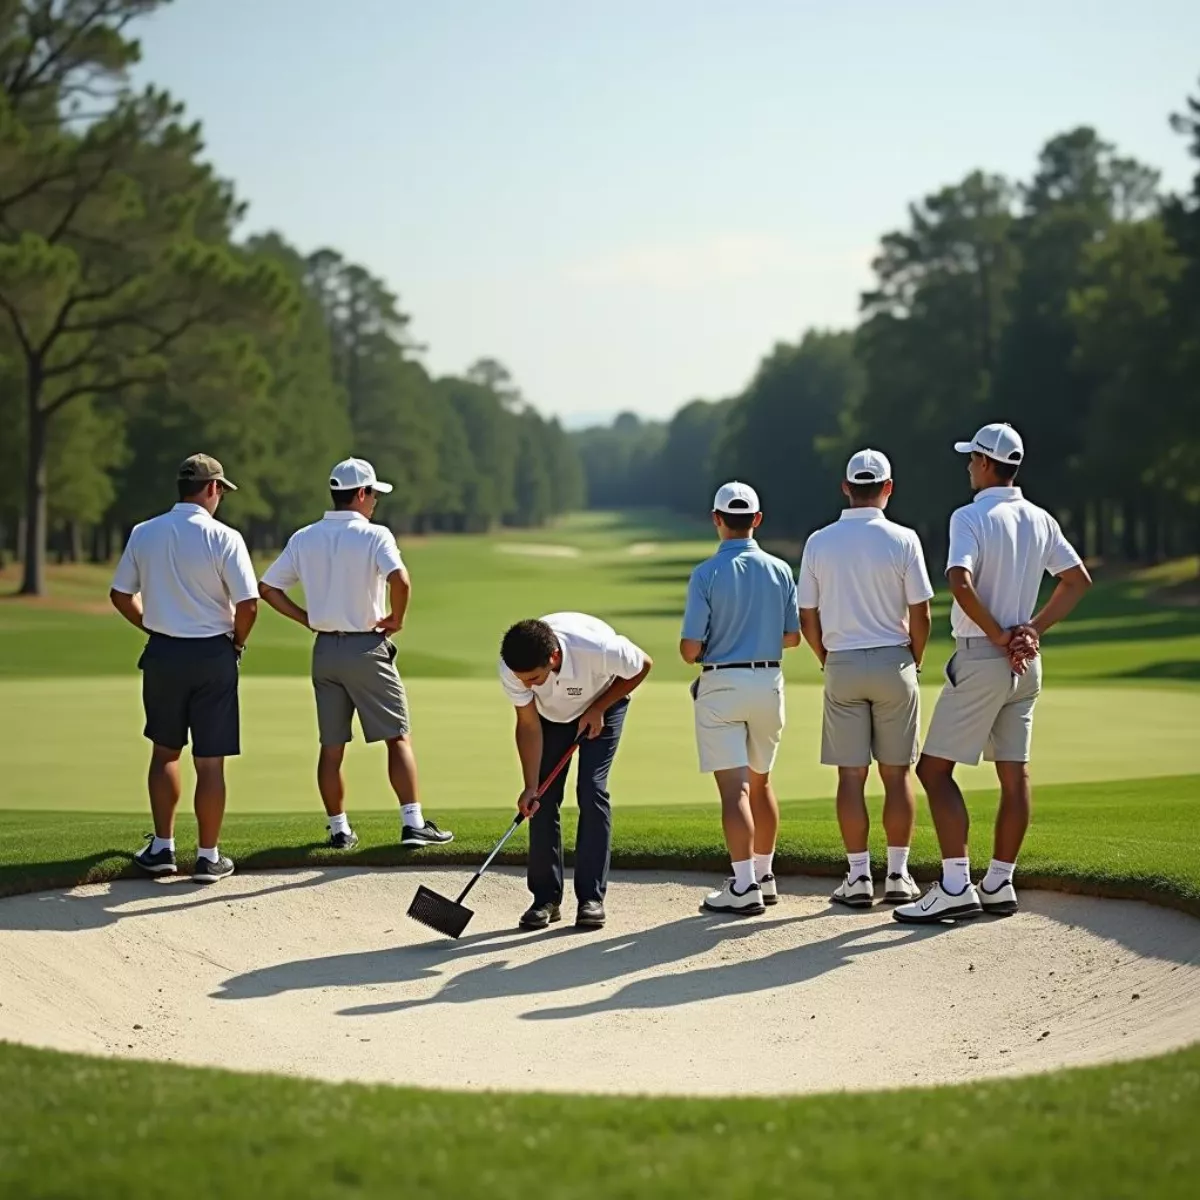
[[934,594],[920,539],[882,509],[844,509],[804,546],[802,608],[821,613],[827,650],[908,644],[908,605]]

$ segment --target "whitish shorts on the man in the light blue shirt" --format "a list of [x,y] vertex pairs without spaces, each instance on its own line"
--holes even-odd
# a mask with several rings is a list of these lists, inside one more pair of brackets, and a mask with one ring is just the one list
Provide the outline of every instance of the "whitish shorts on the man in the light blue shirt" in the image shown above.
[[778,667],[706,671],[691,685],[700,769],[749,767],[766,775],[784,734],[784,672]]

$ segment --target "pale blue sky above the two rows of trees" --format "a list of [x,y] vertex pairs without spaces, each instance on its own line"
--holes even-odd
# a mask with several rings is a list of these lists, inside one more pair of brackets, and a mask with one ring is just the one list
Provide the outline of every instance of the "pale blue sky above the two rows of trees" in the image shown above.
[[383,276],[434,372],[571,424],[847,325],[880,235],[1080,124],[1187,186],[1198,0],[175,0],[142,77],[247,230]]

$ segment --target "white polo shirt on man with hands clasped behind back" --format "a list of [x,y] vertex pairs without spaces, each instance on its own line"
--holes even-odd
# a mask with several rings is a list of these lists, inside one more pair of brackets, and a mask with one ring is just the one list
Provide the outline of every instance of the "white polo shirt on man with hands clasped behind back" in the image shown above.
[[[1081,562],[1058,522],[1025,499],[1019,487],[985,487],[950,515],[946,570],[965,566],[979,599],[1004,629],[1033,616],[1046,571],[1062,575]],[[955,637],[986,636],[958,604],[950,628]]]

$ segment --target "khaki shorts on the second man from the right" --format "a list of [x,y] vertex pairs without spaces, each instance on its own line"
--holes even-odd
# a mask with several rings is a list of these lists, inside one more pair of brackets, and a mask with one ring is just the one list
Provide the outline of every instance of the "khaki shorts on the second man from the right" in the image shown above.
[[920,689],[907,646],[832,650],[826,659],[821,762],[827,767],[884,767],[917,761]]

